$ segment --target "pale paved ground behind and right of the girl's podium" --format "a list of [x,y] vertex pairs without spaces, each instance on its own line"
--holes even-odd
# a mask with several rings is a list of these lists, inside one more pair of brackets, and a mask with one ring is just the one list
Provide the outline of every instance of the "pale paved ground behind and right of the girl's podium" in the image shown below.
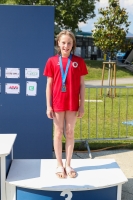
[[[63,158],[65,154],[63,153]],[[74,153],[73,159],[90,159],[88,153]],[[122,186],[122,199],[133,200],[133,150],[120,149],[110,151],[92,152],[92,159],[113,158],[125,174],[128,182]]]

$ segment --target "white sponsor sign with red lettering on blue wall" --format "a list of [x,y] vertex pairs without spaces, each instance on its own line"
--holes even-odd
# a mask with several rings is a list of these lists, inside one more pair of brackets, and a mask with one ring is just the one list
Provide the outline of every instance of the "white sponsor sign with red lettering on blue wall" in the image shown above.
[[5,93],[6,94],[19,94],[20,93],[20,84],[6,83],[5,84]]

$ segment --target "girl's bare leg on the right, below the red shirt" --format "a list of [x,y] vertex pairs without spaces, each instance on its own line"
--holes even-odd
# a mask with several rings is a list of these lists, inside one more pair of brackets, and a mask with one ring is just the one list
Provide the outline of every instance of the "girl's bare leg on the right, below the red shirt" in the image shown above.
[[[71,167],[71,159],[74,148],[74,128],[77,119],[77,112],[66,111],[65,124],[66,124],[66,169]],[[75,177],[76,173],[71,171],[70,177]]]

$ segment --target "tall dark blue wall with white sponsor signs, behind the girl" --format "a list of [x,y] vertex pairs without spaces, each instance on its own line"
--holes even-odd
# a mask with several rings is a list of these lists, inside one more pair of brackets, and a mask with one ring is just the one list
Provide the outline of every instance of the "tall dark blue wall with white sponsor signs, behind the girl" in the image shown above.
[[[14,158],[52,158],[43,70],[54,54],[54,7],[0,5],[0,27],[0,132],[17,133]],[[20,78],[5,78],[5,68],[20,68]],[[39,79],[25,68],[39,68]],[[37,96],[26,96],[27,81],[37,81]],[[5,94],[5,83],[19,83],[20,94]]]

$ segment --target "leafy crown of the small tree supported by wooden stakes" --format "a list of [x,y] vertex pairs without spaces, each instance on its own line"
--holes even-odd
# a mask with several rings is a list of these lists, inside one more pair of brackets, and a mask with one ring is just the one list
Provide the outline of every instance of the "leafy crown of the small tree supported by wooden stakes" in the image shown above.
[[109,0],[109,6],[100,8],[98,21],[92,30],[94,43],[104,53],[110,53],[112,58],[114,52],[125,51],[131,48],[131,42],[126,39],[130,22],[125,8],[121,8],[119,0]]

